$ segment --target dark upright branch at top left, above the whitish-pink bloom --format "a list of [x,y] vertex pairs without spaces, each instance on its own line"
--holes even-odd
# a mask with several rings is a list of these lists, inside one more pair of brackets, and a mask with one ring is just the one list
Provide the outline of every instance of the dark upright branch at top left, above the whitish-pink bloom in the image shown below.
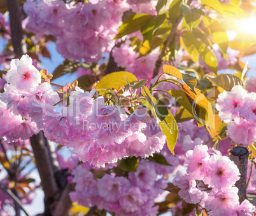
[[22,41],[22,7],[17,2],[17,0],[7,0],[7,7],[11,24],[11,43],[13,44],[15,54],[21,57],[26,51]]

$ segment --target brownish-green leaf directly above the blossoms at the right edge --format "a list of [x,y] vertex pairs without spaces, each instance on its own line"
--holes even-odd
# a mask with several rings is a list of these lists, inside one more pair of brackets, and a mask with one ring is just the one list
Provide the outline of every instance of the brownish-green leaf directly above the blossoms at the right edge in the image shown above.
[[215,78],[208,77],[208,79],[211,83],[220,86],[226,91],[231,91],[232,88],[238,84],[243,86],[243,81],[233,74],[220,74]]

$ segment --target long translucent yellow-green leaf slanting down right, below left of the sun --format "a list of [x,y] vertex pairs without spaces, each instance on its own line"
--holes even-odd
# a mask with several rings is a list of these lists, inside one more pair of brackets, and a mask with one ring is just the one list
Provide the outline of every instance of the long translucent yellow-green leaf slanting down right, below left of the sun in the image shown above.
[[[196,37],[194,37],[191,32],[185,32],[183,34],[182,38],[186,38],[186,39],[188,38],[190,40],[188,42],[188,44],[190,44],[190,46],[194,46],[196,48],[199,55],[201,56],[201,58],[205,62],[205,64],[208,65],[208,67],[210,67],[211,71],[213,71],[213,72],[215,72],[215,74],[217,74],[217,67],[218,67],[217,58],[211,52],[211,50],[208,49],[206,44],[202,43],[201,41],[198,41],[196,39]],[[184,48],[185,48],[185,50],[188,51],[190,56],[193,55],[193,53],[190,53],[190,49],[188,49],[186,47],[184,47]],[[192,56],[191,56],[191,58],[192,58]]]

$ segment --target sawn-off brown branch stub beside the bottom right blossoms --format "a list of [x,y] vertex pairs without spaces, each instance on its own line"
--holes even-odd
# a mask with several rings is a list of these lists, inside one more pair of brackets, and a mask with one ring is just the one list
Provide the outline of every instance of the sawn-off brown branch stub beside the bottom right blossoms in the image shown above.
[[231,149],[231,161],[234,161],[240,172],[240,179],[236,182],[238,187],[239,202],[246,199],[246,173],[248,165],[249,151],[246,147],[234,147]]

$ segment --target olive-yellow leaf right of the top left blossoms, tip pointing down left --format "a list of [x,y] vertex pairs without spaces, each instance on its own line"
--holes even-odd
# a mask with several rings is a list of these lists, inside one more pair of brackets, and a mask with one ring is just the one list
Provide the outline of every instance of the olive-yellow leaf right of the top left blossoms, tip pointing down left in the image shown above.
[[127,34],[131,34],[132,32],[136,32],[152,17],[155,17],[153,15],[148,14],[136,14],[132,15],[131,17],[128,17],[122,25],[120,26],[118,30],[118,34],[114,39],[118,39],[120,37],[123,37]]

